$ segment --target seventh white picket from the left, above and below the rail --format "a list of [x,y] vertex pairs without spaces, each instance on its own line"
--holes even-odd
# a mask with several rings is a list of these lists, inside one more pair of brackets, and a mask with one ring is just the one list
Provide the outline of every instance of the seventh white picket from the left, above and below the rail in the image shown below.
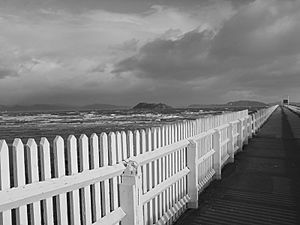
[[[89,141],[85,134],[79,137],[79,165],[80,172],[90,169],[89,166]],[[91,210],[91,189],[86,186],[79,190],[81,194],[81,207],[82,207],[82,221],[83,224],[92,223],[92,210]]]

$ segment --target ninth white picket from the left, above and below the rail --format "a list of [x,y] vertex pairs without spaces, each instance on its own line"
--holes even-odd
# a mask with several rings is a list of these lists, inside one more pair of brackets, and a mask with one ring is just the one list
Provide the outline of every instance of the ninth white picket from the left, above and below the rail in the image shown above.
[[[100,166],[105,167],[109,165],[109,153],[108,153],[108,138],[106,133],[100,135]],[[101,183],[102,189],[102,216],[106,216],[110,213],[110,187],[109,181],[105,180]]]

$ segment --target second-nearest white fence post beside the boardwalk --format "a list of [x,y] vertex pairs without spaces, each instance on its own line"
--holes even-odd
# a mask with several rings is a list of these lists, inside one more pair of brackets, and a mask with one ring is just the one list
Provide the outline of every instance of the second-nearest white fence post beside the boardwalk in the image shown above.
[[188,208],[198,208],[198,144],[194,140],[189,140],[187,146],[187,167],[190,169],[188,174],[188,195],[190,201]]

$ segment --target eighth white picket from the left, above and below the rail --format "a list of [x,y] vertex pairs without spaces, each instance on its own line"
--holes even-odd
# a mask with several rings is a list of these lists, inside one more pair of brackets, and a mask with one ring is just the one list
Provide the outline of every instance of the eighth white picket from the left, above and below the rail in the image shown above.
[[[93,133],[90,137],[91,169],[100,167],[99,137]],[[101,218],[101,188],[100,183],[92,185],[92,215],[93,222]]]

